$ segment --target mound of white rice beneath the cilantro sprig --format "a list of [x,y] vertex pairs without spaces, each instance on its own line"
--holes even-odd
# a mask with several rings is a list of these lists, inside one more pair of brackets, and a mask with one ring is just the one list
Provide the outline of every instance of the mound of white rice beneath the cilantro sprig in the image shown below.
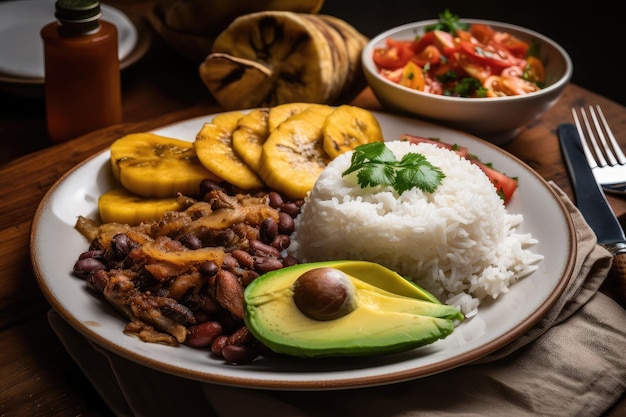
[[362,189],[356,174],[342,177],[352,153],[333,160],[311,190],[288,252],[303,262],[377,262],[442,302],[472,315],[485,297],[497,298],[543,259],[529,234],[515,233],[522,215],[509,214],[487,176],[454,152],[430,144],[387,142],[400,159],[421,153],[446,178],[433,194],[413,188]]

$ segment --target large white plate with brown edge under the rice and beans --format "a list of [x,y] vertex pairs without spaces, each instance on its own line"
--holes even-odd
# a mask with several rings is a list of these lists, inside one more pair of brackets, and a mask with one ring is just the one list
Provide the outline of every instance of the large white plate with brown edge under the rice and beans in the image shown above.
[[[413,119],[376,113],[388,140],[411,133],[468,146],[485,162],[517,176],[519,189],[509,203],[522,213],[518,229],[530,232],[545,256],[539,269],[511,286],[511,291],[461,323],[448,338],[409,352],[367,358],[260,358],[229,366],[207,350],[141,342],[125,335],[123,319],[110,305],[88,292],[71,274],[89,242],[75,229],[79,215],[95,218],[97,199],[113,185],[109,152],[75,167],[44,197],[33,220],[31,256],[39,285],[52,306],[79,332],[109,351],[145,366],[196,379],[240,387],[325,390],[383,385],[443,372],[489,354],[535,324],[561,295],[575,258],[575,235],[569,215],[548,184],[500,148],[465,133]],[[156,133],[193,141],[211,115],[158,129]]]

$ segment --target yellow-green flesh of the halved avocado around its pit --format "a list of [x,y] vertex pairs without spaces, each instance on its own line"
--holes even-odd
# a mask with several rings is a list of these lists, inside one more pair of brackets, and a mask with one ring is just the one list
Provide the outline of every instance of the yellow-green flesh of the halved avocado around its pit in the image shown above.
[[[356,308],[320,321],[303,314],[293,300],[293,284],[307,271],[334,268],[352,281]],[[464,319],[453,306],[397,273],[366,261],[294,265],[267,273],[244,293],[250,332],[276,353],[299,357],[366,356],[400,352],[443,339]]]

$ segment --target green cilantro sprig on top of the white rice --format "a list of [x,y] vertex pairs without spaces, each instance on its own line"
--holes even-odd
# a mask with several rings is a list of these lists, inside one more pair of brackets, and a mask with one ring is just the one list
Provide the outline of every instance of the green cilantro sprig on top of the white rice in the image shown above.
[[390,185],[399,194],[414,187],[432,193],[445,178],[443,171],[422,154],[410,152],[398,161],[384,142],[358,146],[342,176],[355,171],[361,188]]

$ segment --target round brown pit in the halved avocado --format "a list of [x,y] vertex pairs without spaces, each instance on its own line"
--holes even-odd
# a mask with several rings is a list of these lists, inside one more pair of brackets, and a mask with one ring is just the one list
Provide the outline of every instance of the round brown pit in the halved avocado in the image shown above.
[[320,321],[343,317],[357,306],[352,280],[344,272],[329,267],[300,275],[293,283],[293,301],[304,315]]

